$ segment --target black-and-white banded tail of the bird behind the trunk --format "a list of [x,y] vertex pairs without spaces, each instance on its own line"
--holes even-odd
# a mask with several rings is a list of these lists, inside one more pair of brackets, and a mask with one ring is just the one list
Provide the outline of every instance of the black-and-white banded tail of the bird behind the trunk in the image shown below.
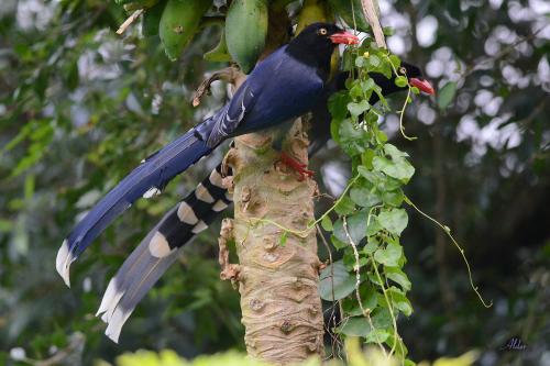
[[[164,215],[124,260],[105,292],[97,315],[106,334],[118,342],[122,325],[138,303],[182,254],[182,247],[228,208],[233,196],[223,187],[221,164]],[[182,220],[184,218],[185,220]]]

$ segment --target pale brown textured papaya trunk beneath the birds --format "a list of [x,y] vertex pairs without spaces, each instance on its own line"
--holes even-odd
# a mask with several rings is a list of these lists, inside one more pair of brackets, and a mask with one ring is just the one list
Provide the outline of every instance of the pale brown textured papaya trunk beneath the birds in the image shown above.
[[[307,145],[298,120],[285,151],[307,164]],[[250,134],[237,138],[227,156],[233,170],[235,212],[234,221],[223,224],[220,247],[234,237],[240,264],[227,266],[226,256],[222,277],[239,282],[249,355],[286,365],[323,355],[317,240],[311,231],[306,237],[288,233],[282,243],[284,231],[261,220],[304,230],[314,220],[317,185],[274,165],[278,156],[270,146],[268,134]]]

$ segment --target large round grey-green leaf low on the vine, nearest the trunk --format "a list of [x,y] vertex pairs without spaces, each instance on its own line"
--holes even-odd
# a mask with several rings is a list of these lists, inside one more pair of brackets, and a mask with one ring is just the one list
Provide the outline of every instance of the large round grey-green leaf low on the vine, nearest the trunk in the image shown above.
[[322,269],[319,279],[319,295],[327,301],[343,299],[355,290],[355,276],[345,270],[342,260]]

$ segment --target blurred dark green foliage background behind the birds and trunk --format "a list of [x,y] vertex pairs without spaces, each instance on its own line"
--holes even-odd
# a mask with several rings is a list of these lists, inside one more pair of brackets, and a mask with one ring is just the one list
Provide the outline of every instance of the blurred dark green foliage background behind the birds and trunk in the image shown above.
[[[550,5],[380,3],[383,25],[395,29],[391,49],[422,65],[435,85],[457,82],[450,106],[418,98],[408,109],[407,134],[417,141],[400,136],[396,115],[381,123],[417,168],[407,195],[453,230],[494,302],[481,306],[444,233],[409,212],[402,243],[415,312],[399,328],[410,358],[477,348],[480,365],[548,365]],[[243,350],[238,293],[219,279],[219,224],[140,304],[120,345],[94,317],[125,255],[221,153],[107,230],[73,266],[70,290],[55,273],[55,253],[78,218],[226,98],[218,86],[199,108],[189,102],[205,74],[223,66],[202,59],[219,29],[201,31],[170,63],[139,24],[117,36],[124,19],[121,7],[102,0],[0,3],[0,365],[22,353],[47,359],[65,352],[64,363],[86,365],[138,348],[185,357]],[[338,195],[348,165],[331,146],[312,165],[322,171],[321,190]],[[501,351],[514,335],[527,350]]]

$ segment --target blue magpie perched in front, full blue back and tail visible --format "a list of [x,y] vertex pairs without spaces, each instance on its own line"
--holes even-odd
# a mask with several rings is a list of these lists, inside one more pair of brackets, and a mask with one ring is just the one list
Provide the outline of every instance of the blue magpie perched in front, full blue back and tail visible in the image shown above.
[[[280,125],[309,111],[322,96],[336,46],[356,43],[356,36],[334,24],[315,23],[258,63],[229,103],[146,158],[74,228],[56,258],[57,271],[67,286],[70,264],[135,200],[160,193],[176,175],[224,140]],[[197,224],[188,207],[182,204],[176,213],[179,221]],[[156,244],[160,252],[169,251],[168,243]]]

